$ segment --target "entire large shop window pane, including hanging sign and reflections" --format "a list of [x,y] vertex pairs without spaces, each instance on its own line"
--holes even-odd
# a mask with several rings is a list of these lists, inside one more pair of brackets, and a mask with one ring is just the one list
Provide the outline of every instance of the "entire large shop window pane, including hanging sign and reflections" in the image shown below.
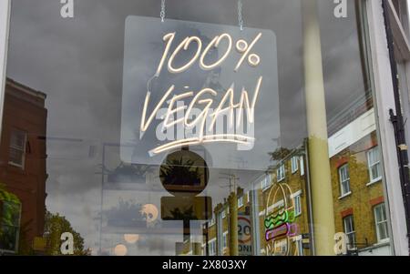
[[0,64],[0,183],[30,231],[16,253],[63,255],[63,225],[74,255],[334,255],[343,231],[367,238],[360,255],[395,250],[375,237],[389,238],[374,205],[395,182],[381,179],[369,1],[343,19],[329,0],[38,2],[12,0]]

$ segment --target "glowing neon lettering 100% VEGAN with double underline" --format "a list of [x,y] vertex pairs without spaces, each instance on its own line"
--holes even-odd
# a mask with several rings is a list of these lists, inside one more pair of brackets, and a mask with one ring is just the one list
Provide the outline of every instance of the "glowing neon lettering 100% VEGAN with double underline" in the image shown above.
[[[155,77],[159,77],[163,69],[163,66],[166,63],[166,59],[169,56],[169,49],[174,41],[175,34],[176,34],[175,32],[169,33],[163,37],[163,41],[166,42],[166,46],[165,46],[162,58],[159,61],[159,66],[155,73]],[[251,41],[251,45],[249,46],[245,40],[239,40],[236,43],[236,49],[238,50],[238,52],[241,53],[241,59],[239,60],[239,62],[236,64],[234,68],[235,72],[237,72],[240,69],[246,57],[248,57],[248,62],[252,67],[258,66],[260,64],[261,62],[260,56],[256,54],[250,54],[250,52],[251,52],[251,48],[253,48],[253,46],[255,46],[255,44],[261,39],[261,36],[262,34],[259,33],[253,39],[253,41]],[[221,56],[220,59],[214,62],[213,64],[206,65],[204,60],[209,55],[210,49],[212,47],[220,46],[220,42],[223,39],[227,40],[227,43],[228,43],[228,48],[226,49],[225,54]],[[192,42],[196,43],[195,55],[192,58],[190,58],[190,60],[185,65],[174,67],[173,63],[174,63],[175,57],[180,54],[180,51],[182,49],[184,51],[187,51]],[[216,68],[217,66],[222,66],[223,61],[231,53],[232,38],[229,34],[222,34],[220,36],[215,36],[213,40],[210,42],[210,44],[201,53],[202,45],[203,43],[200,37],[198,36],[185,37],[185,39],[183,39],[183,41],[179,44],[179,46],[177,46],[174,52],[169,56],[169,61],[168,61],[168,66],[167,66],[169,73],[171,74],[183,73],[187,71],[190,68],[190,66],[193,66],[198,59],[200,59],[200,68],[202,70],[211,70],[211,69]],[[174,142],[169,142],[168,144],[165,144],[165,145],[162,145],[162,146],[159,146],[159,147],[156,147],[150,150],[149,154],[155,155],[155,154],[159,154],[159,153],[168,151],[170,149],[178,148],[178,147],[195,146],[201,143],[210,143],[210,142],[228,142],[228,143],[231,142],[231,143],[239,143],[239,144],[244,144],[244,145],[251,145],[251,141],[254,141],[253,137],[246,137],[246,136],[237,135],[237,134],[207,135],[206,132],[214,131],[214,126],[215,126],[215,123],[218,117],[221,117],[222,114],[224,114],[225,112],[229,113],[229,127],[233,127],[235,109],[238,110],[237,124],[236,124],[237,127],[240,127],[241,122],[243,122],[242,117],[243,117],[244,109],[247,110],[248,122],[252,124],[254,122],[254,109],[257,103],[258,95],[261,90],[262,79],[263,77],[259,76],[251,102],[249,99],[248,91],[245,89],[245,87],[242,87],[241,99],[238,104],[234,104],[235,89],[233,86],[235,86],[235,83],[232,83],[231,87],[226,91],[225,96],[221,98],[220,103],[218,104],[217,102],[218,107],[216,107],[213,112],[210,112],[210,107],[214,105],[213,104],[214,99],[212,97],[218,96],[218,92],[213,90],[212,88],[205,87],[201,89],[196,95],[194,94],[194,91],[189,91],[189,92],[185,92],[179,95],[172,96],[169,101],[168,111],[164,117],[163,127],[169,128],[179,123],[181,123],[184,127],[196,127],[200,125],[198,137],[184,138],[184,139],[180,139]],[[167,99],[169,99],[169,96],[171,96],[174,89],[175,89],[174,85],[171,85],[169,87],[168,91],[165,93],[164,96],[162,96],[162,98],[159,100],[158,105],[154,108],[154,110],[151,112],[151,114],[149,115],[147,119],[147,112],[148,112],[149,98],[150,98],[150,91],[148,91],[147,96],[145,98],[144,107],[142,110],[140,137],[142,137],[144,133],[147,131],[152,120],[154,119],[154,117],[156,117],[156,114],[158,113],[159,108],[162,107],[162,105],[167,101]],[[192,100],[186,111],[185,116],[177,120],[171,121],[170,119],[171,116],[173,117],[173,115],[176,114],[178,111],[185,109],[185,107],[174,107],[176,103],[181,99],[189,98],[189,97],[192,98]],[[203,105],[203,109],[200,112],[200,115],[196,117],[195,119],[190,120],[192,108],[198,105]],[[228,105],[228,107],[225,107],[225,105]],[[206,128],[207,117],[211,118],[210,127],[208,128]]]

